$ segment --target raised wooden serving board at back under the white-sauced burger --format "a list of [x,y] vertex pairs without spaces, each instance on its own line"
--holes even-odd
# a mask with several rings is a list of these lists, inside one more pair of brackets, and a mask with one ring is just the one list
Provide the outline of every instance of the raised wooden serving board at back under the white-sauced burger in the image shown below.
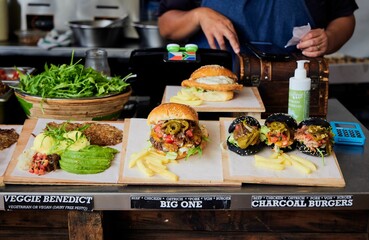
[[[172,96],[181,91],[181,86],[166,86],[162,103],[170,102]],[[235,92],[234,98],[225,102],[203,102],[199,106],[192,106],[198,112],[265,112],[263,101],[257,87],[244,87]]]

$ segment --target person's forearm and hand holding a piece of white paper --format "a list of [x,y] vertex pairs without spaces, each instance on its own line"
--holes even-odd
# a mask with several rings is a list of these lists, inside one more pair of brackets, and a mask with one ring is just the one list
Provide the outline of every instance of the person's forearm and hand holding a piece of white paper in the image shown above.
[[297,48],[307,57],[323,56],[339,50],[352,36],[355,29],[354,15],[331,21],[327,28],[313,29],[306,34]]

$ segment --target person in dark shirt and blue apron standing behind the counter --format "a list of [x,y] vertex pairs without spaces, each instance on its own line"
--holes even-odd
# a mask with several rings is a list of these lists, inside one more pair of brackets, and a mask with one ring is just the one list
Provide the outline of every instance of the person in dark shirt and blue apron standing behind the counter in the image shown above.
[[[239,53],[246,41],[271,42],[286,52],[318,57],[339,50],[355,28],[355,0],[161,0],[160,34],[204,48]],[[300,42],[284,48],[293,27],[311,25]],[[202,30],[202,31],[200,31]]]

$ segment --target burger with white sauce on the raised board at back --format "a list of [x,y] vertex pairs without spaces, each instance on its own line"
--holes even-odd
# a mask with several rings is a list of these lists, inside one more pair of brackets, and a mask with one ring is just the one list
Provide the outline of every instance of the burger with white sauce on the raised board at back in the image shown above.
[[192,88],[193,94],[204,101],[224,102],[233,99],[234,91],[240,91],[238,77],[220,65],[205,65],[195,70],[182,87]]

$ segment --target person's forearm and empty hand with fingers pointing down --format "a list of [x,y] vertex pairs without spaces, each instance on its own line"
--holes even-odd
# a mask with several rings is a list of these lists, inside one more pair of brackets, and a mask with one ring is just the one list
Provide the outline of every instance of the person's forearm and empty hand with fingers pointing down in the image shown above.
[[166,39],[183,40],[202,30],[211,48],[216,49],[218,44],[225,50],[227,39],[235,53],[240,51],[232,22],[210,8],[199,7],[190,11],[170,10],[159,17],[158,25],[160,34]]

